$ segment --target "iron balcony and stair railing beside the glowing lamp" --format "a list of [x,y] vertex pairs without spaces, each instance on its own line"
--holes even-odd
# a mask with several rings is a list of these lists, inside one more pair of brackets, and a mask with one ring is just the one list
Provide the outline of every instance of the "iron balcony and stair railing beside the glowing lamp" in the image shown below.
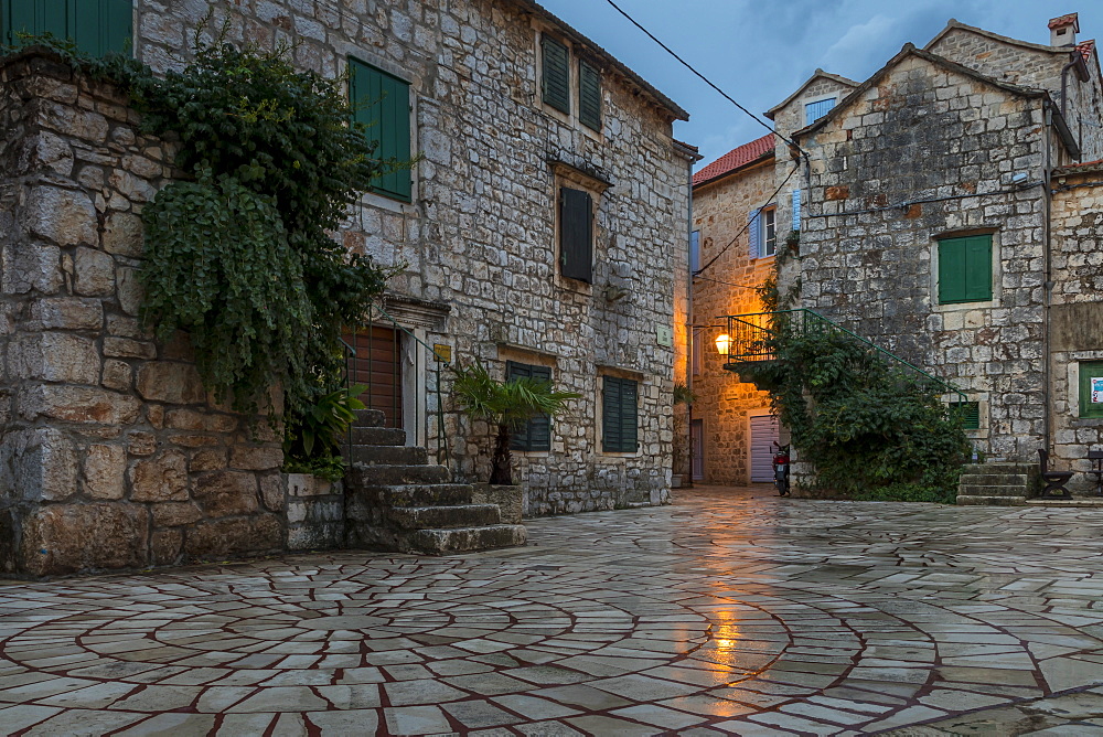
[[774,357],[771,349],[772,339],[779,332],[790,331],[802,335],[843,334],[872,349],[891,364],[918,374],[923,382],[934,386],[941,393],[957,395],[959,403],[967,402],[965,393],[953,384],[923,371],[872,341],[806,308],[750,314],[725,314],[718,319],[727,321],[728,353],[724,367],[728,371],[736,371],[741,364],[751,361],[772,360]]

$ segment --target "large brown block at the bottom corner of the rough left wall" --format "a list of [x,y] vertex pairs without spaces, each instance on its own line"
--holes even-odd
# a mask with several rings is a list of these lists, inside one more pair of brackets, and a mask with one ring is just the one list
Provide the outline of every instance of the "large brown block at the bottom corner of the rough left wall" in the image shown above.
[[50,504],[23,526],[22,567],[57,576],[147,564],[146,510],[135,504]]

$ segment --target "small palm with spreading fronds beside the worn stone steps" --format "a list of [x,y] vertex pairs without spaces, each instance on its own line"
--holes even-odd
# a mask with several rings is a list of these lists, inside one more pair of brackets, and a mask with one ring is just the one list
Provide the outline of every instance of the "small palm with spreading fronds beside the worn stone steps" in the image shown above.
[[581,396],[575,392],[556,392],[547,382],[534,378],[499,381],[480,361],[453,366],[452,372],[456,375],[452,396],[460,409],[472,419],[486,420],[497,428],[491,456],[491,484],[513,484],[510,437],[518,425],[538,415],[557,415],[570,399]]

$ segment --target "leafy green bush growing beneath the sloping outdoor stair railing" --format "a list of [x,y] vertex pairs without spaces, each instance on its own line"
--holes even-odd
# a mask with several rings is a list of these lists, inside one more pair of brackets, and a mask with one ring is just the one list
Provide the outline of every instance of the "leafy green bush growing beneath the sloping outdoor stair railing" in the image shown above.
[[[777,276],[760,289],[769,311],[792,298]],[[818,491],[953,503],[971,446],[940,388],[846,333],[804,330],[784,313],[772,328],[774,360],[746,364],[740,377],[770,393],[800,459],[815,467]]]

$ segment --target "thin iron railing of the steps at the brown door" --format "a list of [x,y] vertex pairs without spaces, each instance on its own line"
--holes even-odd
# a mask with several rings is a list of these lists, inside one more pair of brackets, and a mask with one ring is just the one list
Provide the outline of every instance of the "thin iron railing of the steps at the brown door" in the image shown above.
[[[375,328],[383,327],[388,329],[393,335],[393,343],[390,346],[390,365],[388,370],[390,371],[389,383],[392,386],[390,392],[390,412],[388,413],[388,407],[375,402],[375,389],[376,387],[376,371],[374,353],[376,350],[375,340]],[[367,333],[368,340],[366,342],[366,355],[362,353],[364,348],[360,346],[358,338],[363,333]],[[425,403],[424,413],[416,412],[416,414],[422,415],[425,419],[425,440],[426,445],[429,445],[430,438],[435,438],[436,448],[429,448],[430,451],[435,451],[437,456],[437,463],[441,466],[449,466],[451,461],[451,455],[448,447],[448,435],[445,431],[445,389],[441,376],[443,370],[447,370],[451,364],[449,361],[437,352],[437,349],[429,345],[424,340],[418,338],[413,331],[399,324],[387,311],[379,305],[373,305],[368,309],[367,314],[364,317],[364,321],[360,325],[353,325],[351,328],[352,344],[347,341],[342,340],[344,344],[345,352],[345,370],[343,384],[345,388],[351,387],[354,384],[361,384],[365,386],[364,393],[361,395],[361,400],[370,409],[382,409],[384,413],[386,427],[396,427],[398,429],[406,429],[411,423],[405,421],[405,413],[403,404],[407,406],[417,407],[418,397],[417,394],[420,393],[420,387],[418,386],[421,382],[411,382],[415,386],[404,386],[403,381],[403,356],[409,355],[414,361],[413,376],[421,377],[425,376]],[[409,351],[404,352],[404,338],[406,341],[406,348]],[[416,346],[420,345],[426,349],[425,353],[428,357],[428,365],[421,365],[422,352],[416,350]],[[355,370],[358,360],[366,359],[367,371],[365,373],[357,372]],[[429,381],[431,378],[431,382]],[[415,397],[413,402],[406,403],[405,391],[415,392]],[[417,421],[417,417],[413,421]],[[435,427],[433,427],[435,426]],[[349,430],[349,446],[352,446],[352,428]]]

